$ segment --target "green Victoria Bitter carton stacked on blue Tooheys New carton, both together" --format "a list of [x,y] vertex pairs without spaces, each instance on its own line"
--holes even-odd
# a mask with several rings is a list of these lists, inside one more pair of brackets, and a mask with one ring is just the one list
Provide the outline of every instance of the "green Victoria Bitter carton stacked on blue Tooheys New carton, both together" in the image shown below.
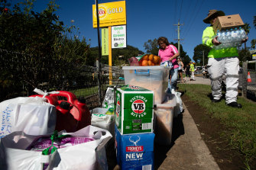
[[154,91],[133,85],[117,88],[115,149],[122,169],[154,169]]

